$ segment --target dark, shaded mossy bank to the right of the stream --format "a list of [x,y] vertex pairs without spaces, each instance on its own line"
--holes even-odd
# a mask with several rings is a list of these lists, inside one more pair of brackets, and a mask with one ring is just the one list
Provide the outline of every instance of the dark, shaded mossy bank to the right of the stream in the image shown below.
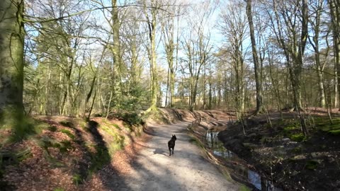
[[[269,123],[269,120],[271,124]],[[225,147],[283,190],[340,190],[340,117],[313,108],[306,115],[305,137],[295,112],[270,112],[220,132]]]

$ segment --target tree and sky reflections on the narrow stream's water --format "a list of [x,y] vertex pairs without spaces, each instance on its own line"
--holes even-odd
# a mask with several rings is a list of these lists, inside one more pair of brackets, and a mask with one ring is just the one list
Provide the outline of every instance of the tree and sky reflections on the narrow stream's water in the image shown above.
[[[219,132],[216,131],[207,131],[205,139],[208,141],[208,146],[213,150],[213,154],[215,156],[221,156],[225,158],[227,161],[241,161],[240,158],[237,157],[232,151],[225,149],[223,143],[217,138]],[[244,179],[254,186],[253,190],[266,190],[266,191],[279,191],[280,188],[274,187],[271,181],[266,180],[265,178],[261,178],[259,173],[256,173],[253,170],[249,170],[246,166],[238,167],[234,169],[240,176],[244,177]],[[263,189],[262,189],[263,187]]]

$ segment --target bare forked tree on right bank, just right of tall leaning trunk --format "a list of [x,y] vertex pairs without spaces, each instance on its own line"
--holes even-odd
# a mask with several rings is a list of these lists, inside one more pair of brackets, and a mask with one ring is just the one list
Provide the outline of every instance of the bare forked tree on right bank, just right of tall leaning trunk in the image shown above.
[[[301,14],[296,14],[296,11],[300,11]],[[294,108],[300,117],[302,132],[306,135],[307,127],[301,98],[301,74],[308,36],[307,0],[280,2],[273,0],[273,12],[275,15],[275,21],[274,19],[271,20],[273,32],[280,47],[285,52],[293,88]]]

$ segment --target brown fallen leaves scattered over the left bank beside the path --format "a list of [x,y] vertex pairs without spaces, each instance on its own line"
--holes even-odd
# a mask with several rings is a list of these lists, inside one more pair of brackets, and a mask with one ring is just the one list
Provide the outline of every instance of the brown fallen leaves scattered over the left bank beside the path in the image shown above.
[[[11,151],[23,151],[30,148],[31,155],[29,158],[4,168],[4,178],[2,179],[9,185],[13,185],[16,190],[55,190],[57,188],[62,190],[111,190],[108,185],[119,184],[119,180],[114,179],[114,177],[128,175],[133,166],[133,159],[138,151],[145,146],[145,141],[149,138],[144,135],[138,139],[132,139],[133,141],[126,145],[124,150],[117,151],[111,156],[111,163],[101,170],[91,173],[83,185],[77,186],[73,183],[73,179],[75,173],[79,172],[81,168],[80,164],[83,168],[91,166],[91,157],[93,157],[91,153],[95,153],[93,136],[82,127],[72,129],[60,125],[59,121],[64,120],[64,117],[50,117],[49,119],[41,117],[40,120],[44,120],[44,122],[53,126],[53,131],[43,129],[41,134],[32,139],[2,148]],[[101,121],[101,119],[98,121]],[[121,125],[122,122],[115,121],[115,124]],[[61,129],[67,129],[75,135],[75,138],[72,139],[72,137],[61,132]],[[110,135],[105,134],[104,131],[99,132],[103,134],[104,140],[108,140],[106,137]],[[126,132],[123,133],[126,136]],[[52,146],[44,149],[39,144],[42,137],[52,139]],[[53,144],[62,141],[69,141],[73,149],[67,149],[66,153],[62,154],[57,144],[53,146]],[[85,144],[86,146],[84,146]]]

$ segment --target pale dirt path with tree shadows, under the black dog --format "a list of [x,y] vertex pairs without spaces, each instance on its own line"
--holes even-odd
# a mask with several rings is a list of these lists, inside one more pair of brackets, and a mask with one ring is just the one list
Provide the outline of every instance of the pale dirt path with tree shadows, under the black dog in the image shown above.
[[[187,122],[176,125],[149,125],[154,130],[146,149],[140,151],[130,175],[116,185],[117,190],[238,190],[215,166],[200,155],[190,142]],[[177,141],[174,156],[167,142],[171,134]]]

